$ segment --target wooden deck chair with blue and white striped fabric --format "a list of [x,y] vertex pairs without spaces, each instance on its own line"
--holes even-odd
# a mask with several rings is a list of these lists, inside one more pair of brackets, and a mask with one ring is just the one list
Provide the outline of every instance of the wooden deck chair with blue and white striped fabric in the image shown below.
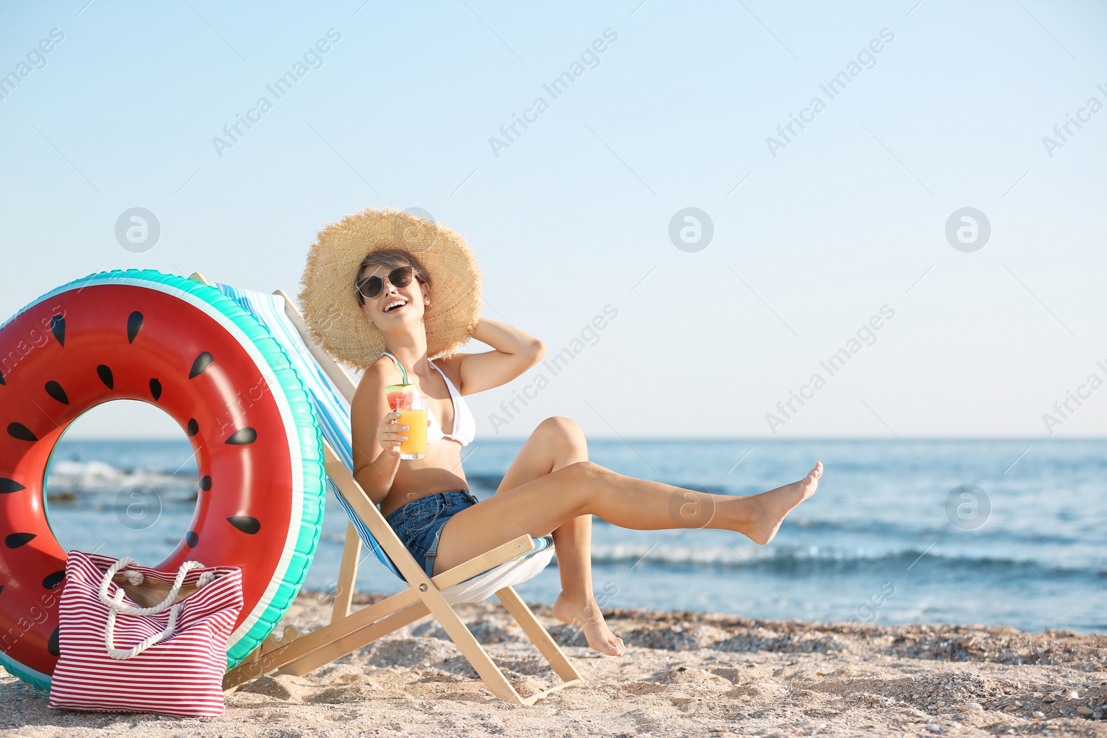
[[[583,684],[583,677],[572,661],[513,589],[513,585],[535,576],[549,563],[554,555],[552,537],[532,539],[520,536],[428,578],[353,478],[349,404],[353,398],[354,384],[314,343],[296,303],[280,290],[266,294],[208,282],[198,273],[192,278],[219,289],[238,302],[269,330],[289,355],[315,406],[323,435],[329,486],[350,518],[330,624],[304,635],[288,626],[280,641],[270,635],[252,654],[227,672],[224,689],[234,692],[247,682],[272,672],[303,676],[427,614],[442,625],[488,689],[504,701],[532,705],[552,692]],[[362,545],[406,582],[407,588],[351,613]],[[493,594],[545,656],[561,678],[560,684],[521,697],[452,607],[462,602],[480,602]]]

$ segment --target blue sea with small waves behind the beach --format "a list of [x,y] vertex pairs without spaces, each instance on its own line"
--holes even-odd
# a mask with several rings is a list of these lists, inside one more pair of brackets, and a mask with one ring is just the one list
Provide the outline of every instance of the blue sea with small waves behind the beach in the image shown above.
[[[478,498],[494,493],[521,445],[464,449]],[[754,495],[825,465],[818,492],[768,545],[596,519],[593,589],[606,607],[1107,632],[1107,440],[673,438],[588,448],[620,474],[720,495]],[[66,549],[156,565],[188,530],[197,474],[185,438],[63,437],[46,475],[51,527]],[[345,529],[329,497],[307,589],[333,591]],[[402,588],[372,555],[362,560],[359,590]],[[556,561],[517,589],[552,603]]]

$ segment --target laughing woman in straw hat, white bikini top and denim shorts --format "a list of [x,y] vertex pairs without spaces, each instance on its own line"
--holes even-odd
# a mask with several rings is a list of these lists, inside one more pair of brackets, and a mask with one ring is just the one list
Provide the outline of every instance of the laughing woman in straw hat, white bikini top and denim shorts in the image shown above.
[[[823,465],[761,495],[708,495],[591,462],[580,427],[549,417],[523,445],[496,493],[477,502],[462,469],[462,447],[475,433],[462,395],[510,382],[545,353],[535,336],[479,318],[480,283],[459,236],[406,212],[365,210],[320,231],[300,298],[323,345],[365,368],[351,406],[354,478],[432,576],[524,533],[552,533],[561,579],[554,615],[579,625],[596,651],[621,656],[625,646],[592,594],[593,514],[635,530],[733,530],[765,544],[815,492]],[[438,301],[445,305],[435,311]],[[469,336],[493,351],[451,353]],[[439,355],[445,357],[428,358]],[[390,412],[384,391],[403,381],[397,363],[430,398],[422,459],[400,458],[407,428],[397,425],[400,414]],[[685,429],[672,426],[674,434]]]

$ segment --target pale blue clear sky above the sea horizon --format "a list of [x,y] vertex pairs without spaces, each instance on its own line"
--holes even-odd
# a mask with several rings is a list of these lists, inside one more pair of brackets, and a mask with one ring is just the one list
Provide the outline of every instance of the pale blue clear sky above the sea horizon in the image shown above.
[[[420,208],[473,247],[484,318],[569,352],[468,396],[480,437],[1101,436],[1105,24],[1090,0],[19,3],[0,320],[108,269],[294,294],[328,221]],[[117,238],[132,208],[152,246]],[[133,402],[72,433],[136,427],[183,437]]]

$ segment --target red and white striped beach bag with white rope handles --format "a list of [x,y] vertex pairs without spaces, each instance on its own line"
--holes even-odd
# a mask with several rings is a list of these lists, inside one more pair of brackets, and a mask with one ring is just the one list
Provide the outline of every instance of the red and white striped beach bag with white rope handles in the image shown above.
[[[70,551],[61,596],[61,657],[50,707],[107,713],[223,715],[227,638],[242,609],[242,572],[187,561],[176,573]],[[112,582],[173,584],[165,601],[138,607]],[[173,604],[183,585],[200,589]]]

